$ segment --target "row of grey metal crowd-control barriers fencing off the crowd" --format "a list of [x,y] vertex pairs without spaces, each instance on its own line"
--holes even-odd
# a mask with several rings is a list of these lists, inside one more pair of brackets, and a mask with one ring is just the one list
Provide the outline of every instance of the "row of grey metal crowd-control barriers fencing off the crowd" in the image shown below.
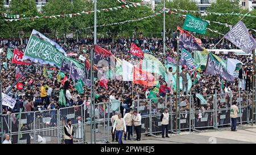
[[[171,133],[230,126],[230,106],[233,101],[238,102],[238,109],[240,110],[237,123],[242,125],[251,122],[252,100],[250,94],[243,94],[240,97],[240,94],[215,93],[203,95],[203,97],[206,102],[191,94],[179,98],[166,96],[146,100],[138,99],[133,101],[131,107],[142,116],[141,133],[143,135],[158,135],[162,132],[160,116],[164,108],[169,110],[168,129]],[[176,105],[176,103],[178,104]],[[115,100],[100,102],[93,107],[82,105],[64,107],[59,110],[5,114],[2,115],[3,132],[10,134],[14,144],[60,144],[64,143],[64,126],[70,119],[74,128],[74,143],[91,143],[92,141],[110,143],[113,125],[111,118],[115,111],[123,113],[122,107],[121,102]],[[94,115],[91,114],[90,108],[95,111]],[[95,127],[92,127],[91,124],[94,125],[94,123]],[[93,130],[95,130],[96,135],[91,136]],[[131,136],[135,138],[135,135],[133,127]]]

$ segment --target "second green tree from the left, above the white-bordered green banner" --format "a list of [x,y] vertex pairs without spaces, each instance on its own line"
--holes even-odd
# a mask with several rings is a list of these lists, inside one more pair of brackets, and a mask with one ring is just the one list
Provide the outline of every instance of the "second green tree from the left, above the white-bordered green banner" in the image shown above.
[[69,16],[72,16],[74,7],[70,0],[51,0],[42,7],[42,12],[44,15],[64,15],[69,14],[65,17],[56,17],[52,19],[47,19],[46,24],[49,28],[49,31],[54,33],[56,37],[60,37],[64,34],[64,44],[67,42],[66,34],[70,31],[71,19]]

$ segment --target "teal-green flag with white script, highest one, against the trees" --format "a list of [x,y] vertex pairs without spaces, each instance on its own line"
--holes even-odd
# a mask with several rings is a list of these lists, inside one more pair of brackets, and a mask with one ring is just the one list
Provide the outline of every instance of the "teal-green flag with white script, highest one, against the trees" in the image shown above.
[[200,34],[205,34],[208,24],[209,23],[206,20],[196,18],[195,16],[187,14],[187,17],[183,24],[183,29]]

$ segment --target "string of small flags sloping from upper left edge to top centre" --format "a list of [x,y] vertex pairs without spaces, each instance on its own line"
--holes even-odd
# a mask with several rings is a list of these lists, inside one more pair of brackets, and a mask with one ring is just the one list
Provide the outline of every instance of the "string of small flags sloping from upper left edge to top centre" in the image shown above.
[[[108,11],[114,11],[114,10],[119,10],[119,9],[123,9],[123,8],[130,8],[130,7],[141,7],[141,3],[133,3],[133,4],[130,4],[130,5],[122,5],[122,6],[117,6],[117,7],[110,7],[110,8],[102,8],[100,10],[97,10],[97,12],[108,12]],[[31,19],[31,20],[34,20],[34,19],[39,19],[39,18],[44,18],[44,19],[47,19],[47,18],[72,18],[74,16],[79,16],[79,15],[84,15],[84,14],[91,14],[93,13],[93,11],[82,11],[82,12],[79,12],[79,13],[74,13],[74,14],[61,14],[61,15],[51,15],[51,16],[35,16],[35,17],[31,17],[31,18],[14,18],[14,19],[2,19],[2,21],[18,21],[18,20],[22,20],[22,19]],[[5,13],[2,12],[2,15],[4,15]],[[19,15],[13,15],[15,17],[19,16]],[[19,16],[20,17],[20,16]]]

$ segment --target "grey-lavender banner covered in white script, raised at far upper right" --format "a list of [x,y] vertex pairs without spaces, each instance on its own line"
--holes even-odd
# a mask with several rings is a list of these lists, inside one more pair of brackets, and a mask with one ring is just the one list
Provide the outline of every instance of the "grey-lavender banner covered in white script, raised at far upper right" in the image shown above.
[[251,53],[256,48],[256,41],[241,20],[224,37],[245,53]]

